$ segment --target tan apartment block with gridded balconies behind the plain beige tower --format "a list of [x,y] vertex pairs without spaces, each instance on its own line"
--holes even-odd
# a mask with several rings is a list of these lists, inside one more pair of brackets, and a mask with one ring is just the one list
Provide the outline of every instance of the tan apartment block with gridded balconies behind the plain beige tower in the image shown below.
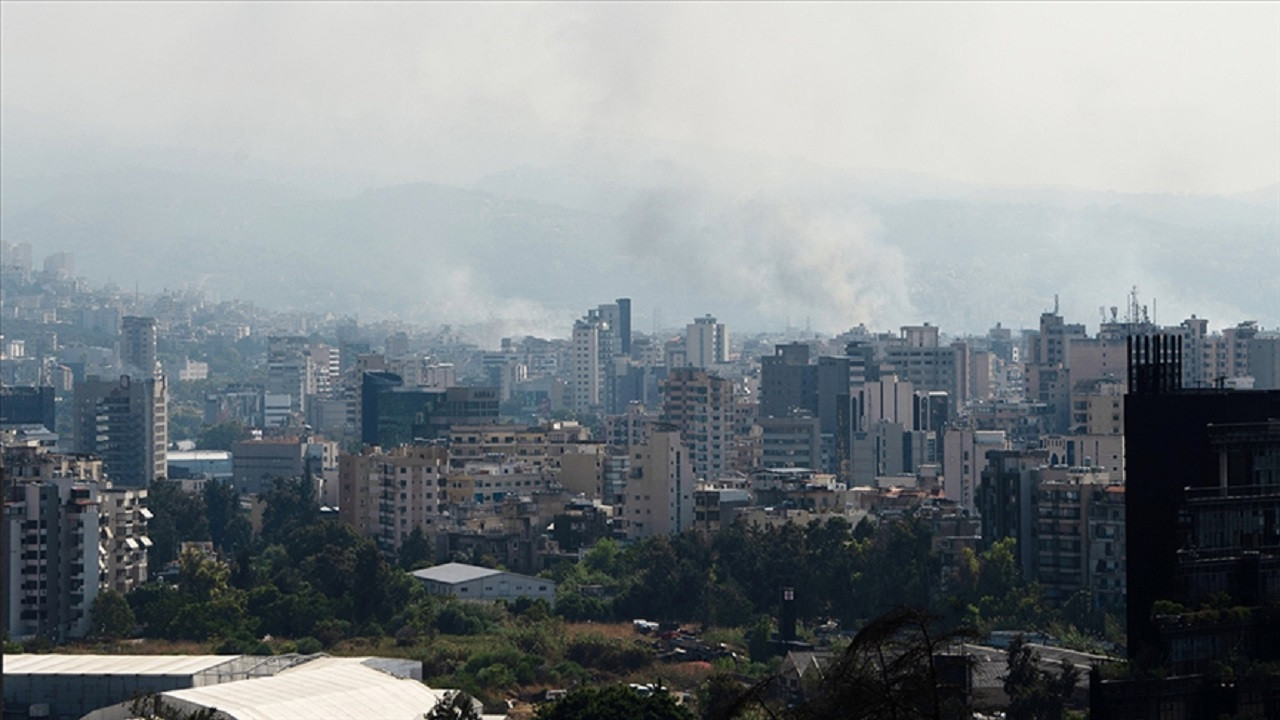
[[677,368],[667,373],[660,387],[660,421],[680,428],[695,475],[713,480],[728,473],[733,464],[733,382]]

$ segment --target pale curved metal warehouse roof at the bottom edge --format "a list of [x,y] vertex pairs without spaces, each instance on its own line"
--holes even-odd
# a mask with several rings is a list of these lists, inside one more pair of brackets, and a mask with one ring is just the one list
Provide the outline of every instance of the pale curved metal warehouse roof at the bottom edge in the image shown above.
[[179,708],[214,707],[234,720],[421,719],[443,692],[364,665],[362,657],[323,657],[273,678],[164,693]]

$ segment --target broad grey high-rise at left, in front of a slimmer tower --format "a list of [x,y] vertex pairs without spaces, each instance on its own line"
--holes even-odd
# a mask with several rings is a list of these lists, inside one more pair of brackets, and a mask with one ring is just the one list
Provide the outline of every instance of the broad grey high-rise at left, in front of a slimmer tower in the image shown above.
[[100,456],[113,484],[146,487],[168,471],[168,409],[164,375],[76,383],[76,451]]

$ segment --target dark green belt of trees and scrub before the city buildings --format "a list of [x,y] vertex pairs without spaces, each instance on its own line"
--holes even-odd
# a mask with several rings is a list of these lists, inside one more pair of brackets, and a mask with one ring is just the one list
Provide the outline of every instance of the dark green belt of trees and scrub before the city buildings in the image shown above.
[[[421,660],[430,684],[460,688],[485,702],[517,688],[654,676],[660,667],[657,651],[639,635],[581,626],[566,632],[572,621],[645,618],[699,625],[717,638],[709,641],[713,646],[733,646],[737,659],[717,661],[714,683],[707,675],[698,680],[707,682],[700,693],[704,710],[727,711],[740,700],[735,691],[742,689],[741,678],[763,678],[776,669],[768,664],[777,662],[772,638],[783,587],[795,589],[804,637],[815,639],[822,625],[861,629],[855,647],[910,647],[904,638],[924,637],[920,623],[911,625],[919,632],[900,626],[899,634],[886,634],[883,624],[873,621],[904,606],[927,609],[929,623],[950,628],[1038,629],[1083,638],[1106,626],[1087,597],[1046,606],[1039,588],[1023,580],[1012,541],[961,553],[957,566],[943,571],[929,525],[913,518],[856,527],[838,518],[808,527],[737,524],[716,537],[682,533],[628,546],[602,539],[581,560],[544,573],[558,582],[552,611],[541,601],[483,605],[428,596],[408,570],[430,564],[430,538],[413,533],[398,556],[389,556],[371,538],[321,519],[308,480],[279,480],[262,495],[257,533],[227,484],[209,483],[189,493],[160,482],[152,497],[152,527],[159,530],[152,552],[160,561],[155,569],[164,568],[165,557],[175,560],[174,569],[169,582],[138,588],[127,605],[104,597],[95,618],[100,635],[123,635],[136,626],[146,637],[207,643],[219,652],[344,646],[396,653]],[[188,539],[210,542],[215,553],[179,553]],[[879,635],[867,634],[877,626]],[[868,646],[873,637],[881,638],[879,646]],[[867,656],[845,657],[840,673],[849,678],[861,678],[870,667],[855,662]],[[890,685],[909,692],[910,664],[922,656],[904,657],[908,665],[891,669],[897,675],[877,679],[883,685],[877,692],[884,694]],[[1044,679],[1042,685],[1052,683]],[[735,716],[753,716],[750,708],[739,710],[745,715]]]

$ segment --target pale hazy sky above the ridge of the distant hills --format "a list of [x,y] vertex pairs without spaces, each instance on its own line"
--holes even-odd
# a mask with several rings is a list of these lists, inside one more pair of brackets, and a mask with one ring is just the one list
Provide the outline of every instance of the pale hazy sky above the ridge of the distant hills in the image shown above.
[[0,32],[0,104],[47,133],[371,182],[608,158],[1280,182],[1276,3],[6,0]]

